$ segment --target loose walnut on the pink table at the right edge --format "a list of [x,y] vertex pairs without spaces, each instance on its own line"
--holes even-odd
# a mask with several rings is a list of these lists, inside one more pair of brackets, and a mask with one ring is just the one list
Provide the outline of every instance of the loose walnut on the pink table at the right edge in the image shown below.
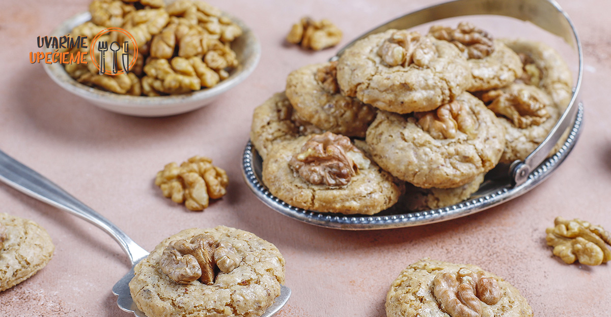
[[554,219],[547,228],[546,241],[554,247],[554,255],[571,264],[576,260],[585,265],[599,265],[611,260],[611,233],[580,219]]

